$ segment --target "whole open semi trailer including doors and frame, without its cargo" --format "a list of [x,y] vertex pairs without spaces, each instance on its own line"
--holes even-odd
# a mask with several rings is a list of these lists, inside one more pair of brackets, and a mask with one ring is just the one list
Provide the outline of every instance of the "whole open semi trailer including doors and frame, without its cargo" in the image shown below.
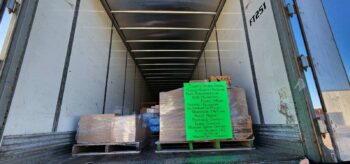
[[[322,2],[294,2],[15,1],[2,50],[0,161],[350,160],[350,85]],[[307,59],[298,52],[291,16],[300,21]],[[317,78],[323,122],[315,117],[306,85],[308,63]],[[233,86],[244,88],[255,150],[71,157],[80,116],[138,114],[142,103],[159,100],[159,92],[211,75],[228,75]]]

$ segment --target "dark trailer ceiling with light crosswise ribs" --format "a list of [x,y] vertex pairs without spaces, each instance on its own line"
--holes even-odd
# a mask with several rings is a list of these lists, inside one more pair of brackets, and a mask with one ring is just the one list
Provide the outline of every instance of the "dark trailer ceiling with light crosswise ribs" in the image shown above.
[[101,0],[147,85],[182,87],[214,29],[225,0]]

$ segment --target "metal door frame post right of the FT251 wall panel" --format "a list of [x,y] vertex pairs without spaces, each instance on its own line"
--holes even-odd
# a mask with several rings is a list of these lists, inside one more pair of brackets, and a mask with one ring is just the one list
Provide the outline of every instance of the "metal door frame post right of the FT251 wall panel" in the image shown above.
[[306,78],[299,65],[299,52],[284,0],[271,0],[276,27],[280,38],[283,58],[296,107],[300,133],[303,141],[304,153],[314,162],[326,161],[321,148],[319,129],[313,119],[311,98],[307,87],[299,89],[300,82],[305,83]]

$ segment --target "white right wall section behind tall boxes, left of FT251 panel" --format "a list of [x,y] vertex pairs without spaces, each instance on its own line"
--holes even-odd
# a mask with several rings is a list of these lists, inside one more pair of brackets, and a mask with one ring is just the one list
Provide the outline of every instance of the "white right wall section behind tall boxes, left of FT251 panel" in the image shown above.
[[222,74],[231,76],[232,86],[246,90],[249,113],[253,116],[254,123],[259,124],[259,111],[242,19],[239,0],[226,1],[216,24],[218,36],[214,29],[205,48],[205,54],[203,53],[199,60],[193,79],[197,78],[198,73],[199,79],[220,75],[216,41],[218,37]]

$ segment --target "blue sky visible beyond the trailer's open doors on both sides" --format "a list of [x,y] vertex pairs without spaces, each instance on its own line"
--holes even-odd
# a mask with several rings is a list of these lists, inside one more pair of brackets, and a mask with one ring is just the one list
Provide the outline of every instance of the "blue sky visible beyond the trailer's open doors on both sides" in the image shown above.
[[[292,3],[292,0],[286,0],[286,2]],[[350,6],[350,0],[323,0],[323,3],[338,45],[338,49],[348,73],[348,77],[350,77],[350,12],[348,12],[347,9]],[[297,18],[294,16],[291,18],[291,22],[295,32],[295,39],[298,44],[298,49],[300,53],[307,54],[301,37]],[[5,11],[4,18],[0,24],[0,48],[3,45],[5,34],[7,32],[6,27],[9,23],[10,16],[7,11]],[[312,73],[310,70],[308,70],[305,72],[305,74],[314,107],[321,107]]]

